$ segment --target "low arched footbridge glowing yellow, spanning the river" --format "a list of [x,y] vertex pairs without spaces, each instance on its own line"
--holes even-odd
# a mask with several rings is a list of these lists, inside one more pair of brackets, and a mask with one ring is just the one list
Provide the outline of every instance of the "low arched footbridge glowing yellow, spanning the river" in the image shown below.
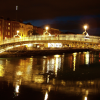
[[[25,44],[44,44],[44,48],[48,48],[48,44],[60,43],[60,48],[76,47],[76,48],[94,48],[100,49],[99,36],[86,36],[83,34],[59,34],[59,35],[32,35],[23,38],[10,38],[0,42],[0,52],[12,49],[16,46]],[[50,46],[52,47],[52,45]],[[58,46],[59,47],[59,46]]]

